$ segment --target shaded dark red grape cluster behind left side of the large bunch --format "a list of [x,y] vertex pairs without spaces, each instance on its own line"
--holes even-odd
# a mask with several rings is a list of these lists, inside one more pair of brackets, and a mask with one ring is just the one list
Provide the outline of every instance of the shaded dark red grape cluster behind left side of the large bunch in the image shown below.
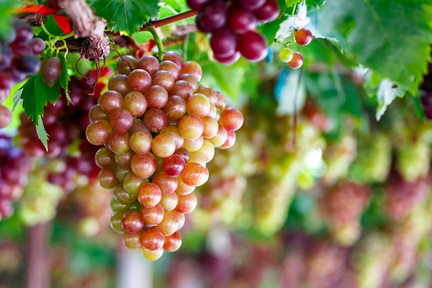
[[[77,175],[95,179],[100,170],[95,164],[97,147],[88,143],[85,137],[86,128],[90,124],[88,112],[97,102],[97,94],[92,97],[89,93],[90,88],[85,79],[72,77],[69,95],[73,104],[68,104],[64,95],[57,99],[56,104],[48,102],[42,117],[49,135],[48,151],[39,141],[34,124],[24,113],[21,115],[17,135],[19,144],[32,157],[45,156],[52,159],[47,165],[50,171],[48,180],[62,186],[65,191],[75,189]],[[72,151],[73,148],[75,151]]]

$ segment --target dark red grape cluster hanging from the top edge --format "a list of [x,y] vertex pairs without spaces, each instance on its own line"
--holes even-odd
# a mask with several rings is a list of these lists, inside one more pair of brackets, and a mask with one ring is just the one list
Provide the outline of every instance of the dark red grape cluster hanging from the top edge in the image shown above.
[[266,39],[255,31],[258,22],[275,20],[279,15],[276,0],[188,0],[198,11],[199,31],[211,33],[210,47],[215,59],[233,64],[242,55],[252,62],[262,61],[268,52]]

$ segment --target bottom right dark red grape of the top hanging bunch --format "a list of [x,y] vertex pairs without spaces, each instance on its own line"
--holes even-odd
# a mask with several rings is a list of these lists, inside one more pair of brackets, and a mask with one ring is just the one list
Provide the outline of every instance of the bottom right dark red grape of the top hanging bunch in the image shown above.
[[253,62],[264,60],[268,52],[266,39],[254,31],[248,31],[238,37],[237,49],[243,57]]

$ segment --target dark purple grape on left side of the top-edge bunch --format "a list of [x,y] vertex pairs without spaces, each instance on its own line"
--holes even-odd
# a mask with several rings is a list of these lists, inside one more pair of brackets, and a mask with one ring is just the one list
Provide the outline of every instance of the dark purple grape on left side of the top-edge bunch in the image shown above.
[[223,1],[208,3],[197,15],[197,28],[202,32],[213,32],[226,24],[228,5]]

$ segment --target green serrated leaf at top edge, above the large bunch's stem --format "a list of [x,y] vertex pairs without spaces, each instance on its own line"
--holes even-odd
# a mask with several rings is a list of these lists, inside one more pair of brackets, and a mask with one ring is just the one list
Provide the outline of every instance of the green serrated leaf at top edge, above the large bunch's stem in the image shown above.
[[90,0],[99,17],[110,23],[114,32],[132,35],[159,12],[158,0]]

